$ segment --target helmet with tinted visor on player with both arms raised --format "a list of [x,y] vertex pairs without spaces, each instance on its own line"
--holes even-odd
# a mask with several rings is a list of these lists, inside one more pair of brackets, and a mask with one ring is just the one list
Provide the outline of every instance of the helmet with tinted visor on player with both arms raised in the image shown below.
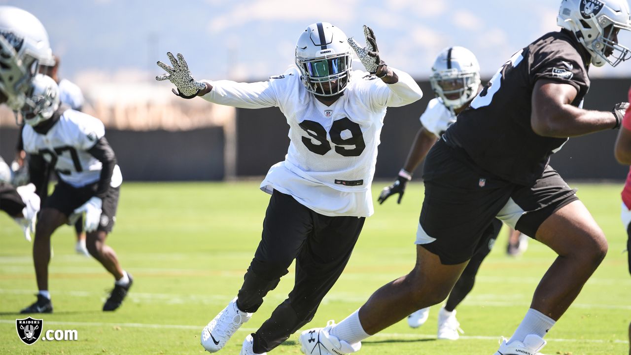
[[309,92],[334,96],[351,80],[351,47],[346,35],[328,22],[309,25],[296,43],[296,65]]

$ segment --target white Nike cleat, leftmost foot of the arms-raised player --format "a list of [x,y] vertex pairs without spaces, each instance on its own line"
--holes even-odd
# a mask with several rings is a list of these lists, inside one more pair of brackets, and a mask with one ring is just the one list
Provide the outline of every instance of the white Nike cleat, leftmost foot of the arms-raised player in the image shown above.
[[237,298],[219,312],[201,331],[201,345],[209,352],[220,351],[241,325],[250,320],[252,313],[237,308]]

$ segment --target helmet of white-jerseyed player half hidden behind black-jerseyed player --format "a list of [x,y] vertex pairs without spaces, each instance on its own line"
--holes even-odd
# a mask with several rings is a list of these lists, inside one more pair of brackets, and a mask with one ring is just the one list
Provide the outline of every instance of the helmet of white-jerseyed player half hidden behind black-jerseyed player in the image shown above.
[[435,95],[452,111],[475,97],[480,82],[480,64],[468,49],[449,47],[436,57],[430,84]]

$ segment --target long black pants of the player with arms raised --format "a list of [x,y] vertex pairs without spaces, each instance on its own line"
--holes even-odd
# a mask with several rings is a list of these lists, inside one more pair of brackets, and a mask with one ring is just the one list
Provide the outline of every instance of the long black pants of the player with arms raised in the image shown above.
[[237,307],[255,312],[296,260],[293,290],[254,337],[254,352],[274,349],[312,320],[322,298],[346,267],[364,217],[328,217],[274,190],[261,242],[239,290]]

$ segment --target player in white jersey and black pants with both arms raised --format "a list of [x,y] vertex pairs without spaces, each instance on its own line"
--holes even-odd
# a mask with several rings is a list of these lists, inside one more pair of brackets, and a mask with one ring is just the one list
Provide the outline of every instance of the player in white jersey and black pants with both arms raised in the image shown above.
[[[350,258],[365,217],[372,215],[370,184],[387,107],[411,104],[422,92],[410,75],[389,68],[375,37],[366,47],[330,23],[307,27],[298,38],[295,66],[269,81],[196,81],[184,58],[158,62],[176,95],[257,109],[279,107],[290,126],[290,145],[261,183],[271,194],[261,242],[239,294],[201,334],[207,351],[219,351],[252,316],[264,296],[296,260],[288,299],[251,335],[241,354],[266,354],[309,322]],[[352,71],[354,49],[365,71]],[[337,344],[346,349],[349,344]],[[347,351],[348,352],[348,351]]]

